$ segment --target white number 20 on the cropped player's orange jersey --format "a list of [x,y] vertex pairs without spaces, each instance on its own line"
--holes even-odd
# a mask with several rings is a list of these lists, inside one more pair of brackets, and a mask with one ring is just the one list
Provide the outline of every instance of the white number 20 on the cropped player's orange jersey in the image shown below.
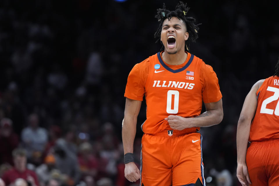
[[[267,108],[267,104],[268,103],[271,103],[272,101],[275,101],[275,100],[278,100],[279,98],[279,88],[275,88],[275,87],[267,87],[267,90],[268,91],[271,91],[271,92],[274,92],[273,96],[265,99],[263,102],[262,102],[262,107],[261,107],[261,111],[260,113],[264,113],[264,114],[273,114],[273,109],[269,109]],[[279,116],[279,101],[276,105],[276,108],[275,108],[275,111],[274,111],[274,114],[276,116]]]

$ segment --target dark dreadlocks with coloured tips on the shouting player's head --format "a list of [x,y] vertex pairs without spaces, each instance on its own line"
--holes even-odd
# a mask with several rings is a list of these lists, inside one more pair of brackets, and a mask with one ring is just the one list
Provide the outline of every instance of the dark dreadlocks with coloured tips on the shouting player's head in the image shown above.
[[[160,24],[157,31],[154,34],[155,38],[159,37],[156,43],[160,41],[164,20],[165,19],[170,20],[172,17],[177,17],[179,20],[182,20],[185,23],[186,30],[189,33],[189,38],[188,40],[185,41],[185,49],[189,51],[190,41],[196,42],[196,39],[198,38],[198,30],[199,30],[198,25],[200,25],[200,24],[197,25],[194,24],[196,19],[194,19],[193,17],[186,17],[189,9],[190,8],[187,7],[187,3],[184,4],[182,1],[180,1],[176,5],[174,11],[167,10],[165,3],[163,4],[163,8],[157,9],[157,15],[155,17],[158,19],[158,22],[160,22]],[[164,46],[162,46],[161,50],[162,49],[164,49]]]

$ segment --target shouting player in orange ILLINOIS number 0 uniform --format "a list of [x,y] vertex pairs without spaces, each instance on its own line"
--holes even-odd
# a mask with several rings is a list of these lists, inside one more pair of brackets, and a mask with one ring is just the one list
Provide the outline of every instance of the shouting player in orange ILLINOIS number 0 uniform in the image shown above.
[[[176,10],[163,6],[155,33],[164,51],[150,56],[131,70],[125,90],[122,127],[125,177],[141,186],[205,185],[200,127],[223,119],[222,95],[212,67],[189,52],[189,40],[198,37],[195,19],[180,2]],[[142,124],[142,164],[137,168],[133,142],[143,96],[146,121]],[[206,112],[201,114],[202,102]]]

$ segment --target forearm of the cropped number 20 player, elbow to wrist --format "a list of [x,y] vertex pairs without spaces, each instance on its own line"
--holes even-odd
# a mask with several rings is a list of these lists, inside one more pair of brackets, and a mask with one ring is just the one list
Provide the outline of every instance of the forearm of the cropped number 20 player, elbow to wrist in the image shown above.
[[250,134],[251,119],[240,116],[237,124],[237,163],[245,164],[247,144]]

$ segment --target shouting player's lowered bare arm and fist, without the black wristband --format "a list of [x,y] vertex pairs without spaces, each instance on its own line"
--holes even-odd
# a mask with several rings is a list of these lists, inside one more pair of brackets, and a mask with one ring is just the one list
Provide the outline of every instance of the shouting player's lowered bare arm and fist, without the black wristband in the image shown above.
[[[124,154],[133,153],[133,144],[136,135],[137,116],[140,112],[142,101],[126,98],[124,120],[122,125],[122,141]],[[140,170],[134,162],[125,164],[125,177],[130,182],[140,179]]]

